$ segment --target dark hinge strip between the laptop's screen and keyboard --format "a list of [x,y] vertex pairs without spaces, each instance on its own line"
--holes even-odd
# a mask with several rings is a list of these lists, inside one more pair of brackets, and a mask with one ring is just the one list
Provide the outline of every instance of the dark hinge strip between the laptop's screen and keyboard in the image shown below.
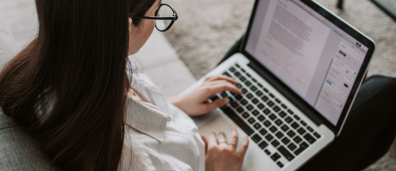
[[274,88],[277,88],[277,90],[286,98],[288,98],[288,100],[293,103],[296,107],[298,107],[301,111],[303,111],[303,113],[310,118],[317,126],[323,124],[322,120],[320,118],[318,118],[317,116],[315,116],[315,114],[310,111],[310,106],[307,106],[306,104],[304,104],[305,102],[301,102],[303,100],[298,99],[294,96],[292,96],[292,94],[290,92],[288,92],[288,88],[286,88],[286,86],[281,85],[281,83],[277,82],[276,79],[268,74],[266,74],[264,72],[264,70],[258,65],[255,64],[254,62],[250,62],[248,64],[248,66],[250,68],[252,68],[253,70],[255,70],[255,72],[259,75],[261,75],[261,77],[263,77],[264,79],[266,79],[266,81],[268,81],[268,83],[270,83]]

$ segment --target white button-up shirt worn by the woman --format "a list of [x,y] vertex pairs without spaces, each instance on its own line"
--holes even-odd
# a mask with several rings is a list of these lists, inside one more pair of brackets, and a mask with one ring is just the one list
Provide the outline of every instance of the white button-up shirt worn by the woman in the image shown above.
[[194,121],[146,75],[134,72],[132,81],[150,103],[128,98],[119,170],[205,170],[205,143]]

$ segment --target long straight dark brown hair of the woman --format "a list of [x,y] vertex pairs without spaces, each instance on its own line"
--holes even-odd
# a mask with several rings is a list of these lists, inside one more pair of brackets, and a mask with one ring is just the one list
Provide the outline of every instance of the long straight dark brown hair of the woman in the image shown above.
[[[144,16],[154,3],[36,0],[38,36],[2,70],[0,105],[56,166],[117,170],[130,90],[128,16]],[[40,120],[45,105],[51,110]]]

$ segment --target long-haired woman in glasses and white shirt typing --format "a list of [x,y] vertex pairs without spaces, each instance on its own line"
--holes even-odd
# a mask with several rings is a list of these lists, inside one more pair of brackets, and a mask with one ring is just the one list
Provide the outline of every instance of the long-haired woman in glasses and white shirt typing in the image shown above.
[[3,68],[0,105],[62,170],[240,170],[248,139],[237,153],[235,130],[230,144],[224,133],[201,138],[187,116],[228,103],[206,102],[216,92],[240,93],[233,79],[210,77],[168,103],[129,63],[160,6],[36,0],[38,36]]

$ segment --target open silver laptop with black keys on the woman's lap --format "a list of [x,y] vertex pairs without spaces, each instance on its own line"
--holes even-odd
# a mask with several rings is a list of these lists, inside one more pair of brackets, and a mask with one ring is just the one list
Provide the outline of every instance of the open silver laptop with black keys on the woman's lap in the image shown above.
[[185,90],[226,75],[243,93],[212,96],[230,103],[193,119],[204,135],[250,137],[242,170],[296,170],[340,135],[374,50],[316,1],[257,0],[241,53]]

